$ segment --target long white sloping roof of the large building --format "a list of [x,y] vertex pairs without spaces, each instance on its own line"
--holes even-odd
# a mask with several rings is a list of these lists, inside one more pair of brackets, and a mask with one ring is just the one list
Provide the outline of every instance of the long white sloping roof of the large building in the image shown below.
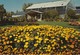
[[30,7],[26,8],[26,9],[66,6],[69,2],[70,2],[70,0],[47,2],[47,3],[38,3],[38,4],[31,5]]

